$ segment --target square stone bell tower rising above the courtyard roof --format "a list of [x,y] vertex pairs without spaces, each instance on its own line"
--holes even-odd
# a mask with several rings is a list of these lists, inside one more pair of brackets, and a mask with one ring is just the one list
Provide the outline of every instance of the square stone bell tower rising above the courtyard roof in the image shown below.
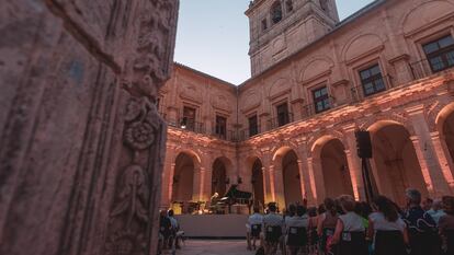
[[324,36],[339,22],[336,0],[253,0],[246,15],[252,77]]

